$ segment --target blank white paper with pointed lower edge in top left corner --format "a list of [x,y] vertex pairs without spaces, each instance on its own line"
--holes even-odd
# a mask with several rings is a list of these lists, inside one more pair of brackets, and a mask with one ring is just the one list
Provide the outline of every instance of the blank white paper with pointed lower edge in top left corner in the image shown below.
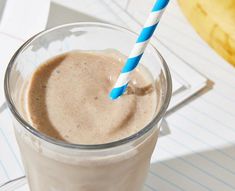
[[7,0],[0,31],[23,41],[45,29],[49,0]]

